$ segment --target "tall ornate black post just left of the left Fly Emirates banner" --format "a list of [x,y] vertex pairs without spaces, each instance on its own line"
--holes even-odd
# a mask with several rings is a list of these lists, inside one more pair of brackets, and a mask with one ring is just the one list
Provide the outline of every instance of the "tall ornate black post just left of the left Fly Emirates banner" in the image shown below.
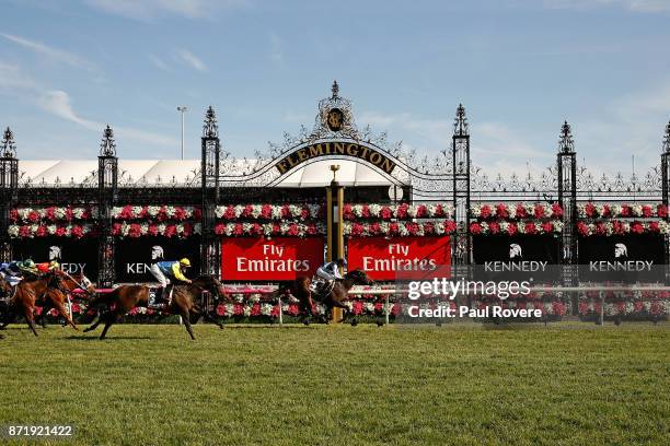
[[221,144],[217,116],[210,106],[203,125],[203,156],[200,164],[203,215],[200,247],[200,273],[221,278],[221,245],[215,233],[216,210],[219,203]]

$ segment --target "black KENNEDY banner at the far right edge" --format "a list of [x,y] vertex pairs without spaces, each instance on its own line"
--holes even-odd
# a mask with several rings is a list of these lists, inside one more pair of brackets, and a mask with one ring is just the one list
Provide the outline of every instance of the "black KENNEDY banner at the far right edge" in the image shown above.
[[661,282],[663,263],[659,234],[579,238],[579,279],[585,282]]

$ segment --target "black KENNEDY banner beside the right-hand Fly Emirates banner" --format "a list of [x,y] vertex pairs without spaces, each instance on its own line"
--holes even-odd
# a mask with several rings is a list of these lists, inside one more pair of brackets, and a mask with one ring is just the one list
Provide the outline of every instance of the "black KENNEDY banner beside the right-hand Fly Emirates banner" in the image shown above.
[[553,235],[480,235],[473,237],[475,275],[484,280],[554,282],[561,263]]

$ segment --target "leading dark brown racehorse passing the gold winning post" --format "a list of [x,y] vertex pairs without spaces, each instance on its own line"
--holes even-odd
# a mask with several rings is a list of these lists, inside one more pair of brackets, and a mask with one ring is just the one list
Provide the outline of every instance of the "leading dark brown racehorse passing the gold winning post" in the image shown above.
[[[300,302],[300,306],[309,314],[309,316],[314,316],[312,307],[313,301],[324,304],[328,310],[333,310],[334,307],[343,308],[344,314],[342,320],[344,320],[346,312],[349,308],[343,303],[343,301],[348,297],[349,290],[351,290],[354,285],[373,285],[374,281],[370,279],[363,270],[357,269],[347,272],[344,275],[344,279],[336,280],[332,287],[316,294],[313,294],[310,290],[311,283],[312,280],[310,278],[299,277],[294,281],[279,285],[279,289],[275,291],[272,296],[278,297],[279,295],[290,293]],[[309,321],[309,316],[305,322]]]

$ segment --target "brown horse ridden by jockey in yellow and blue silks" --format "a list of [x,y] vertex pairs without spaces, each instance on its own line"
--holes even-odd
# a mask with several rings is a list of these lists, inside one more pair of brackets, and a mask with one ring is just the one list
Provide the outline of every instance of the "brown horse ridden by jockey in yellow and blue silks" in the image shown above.
[[[221,282],[210,275],[203,275],[193,281],[193,283],[174,285],[172,292],[172,301],[170,306],[163,309],[163,313],[178,315],[182,317],[184,325],[190,339],[195,340],[192,328],[190,316],[203,316],[206,320],[215,322],[219,328],[223,326],[216,320],[209,313],[208,308],[203,308],[199,304],[204,292],[209,292],[215,296],[215,301],[227,300],[226,292]],[[90,307],[99,305],[107,305],[109,310],[101,313],[97,321],[91,327],[84,329],[84,332],[95,330],[97,326],[104,321],[100,339],[105,339],[107,330],[114,322],[118,321],[126,313],[137,306],[147,306],[149,303],[149,286],[143,285],[124,285],[115,289],[111,293],[100,294],[89,304]],[[194,324],[197,322],[194,321]]]

